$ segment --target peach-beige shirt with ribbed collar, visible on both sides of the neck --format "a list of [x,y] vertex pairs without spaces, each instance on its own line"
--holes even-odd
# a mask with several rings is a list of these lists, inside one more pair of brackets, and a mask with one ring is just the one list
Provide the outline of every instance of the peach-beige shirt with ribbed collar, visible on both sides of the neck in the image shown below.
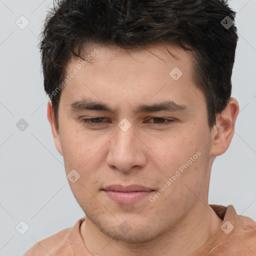
[[[256,222],[237,215],[234,207],[209,204],[223,219],[222,224],[193,256],[255,256]],[[31,247],[23,256],[91,256],[80,235],[80,218],[73,227],[45,238]]]

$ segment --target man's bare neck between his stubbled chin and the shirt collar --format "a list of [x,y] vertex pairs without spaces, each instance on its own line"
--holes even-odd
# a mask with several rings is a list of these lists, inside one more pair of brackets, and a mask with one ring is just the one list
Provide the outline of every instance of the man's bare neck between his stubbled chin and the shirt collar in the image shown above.
[[167,232],[154,240],[127,243],[103,234],[86,216],[80,227],[82,240],[92,255],[154,255],[188,256],[199,250],[221,226],[213,209],[200,200],[189,213]]

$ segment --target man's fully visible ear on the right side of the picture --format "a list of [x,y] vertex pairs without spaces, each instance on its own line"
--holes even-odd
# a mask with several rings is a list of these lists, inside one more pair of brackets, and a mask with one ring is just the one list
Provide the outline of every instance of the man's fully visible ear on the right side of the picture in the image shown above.
[[230,98],[225,109],[216,115],[213,127],[211,155],[217,156],[226,151],[234,134],[234,124],[239,112],[239,105],[235,98]]

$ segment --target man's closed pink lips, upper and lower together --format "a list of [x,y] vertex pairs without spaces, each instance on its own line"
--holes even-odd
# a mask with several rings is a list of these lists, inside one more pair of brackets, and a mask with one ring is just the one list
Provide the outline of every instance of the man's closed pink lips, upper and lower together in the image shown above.
[[154,190],[142,185],[110,185],[102,189],[106,195],[117,203],[131,204],[149,196]]

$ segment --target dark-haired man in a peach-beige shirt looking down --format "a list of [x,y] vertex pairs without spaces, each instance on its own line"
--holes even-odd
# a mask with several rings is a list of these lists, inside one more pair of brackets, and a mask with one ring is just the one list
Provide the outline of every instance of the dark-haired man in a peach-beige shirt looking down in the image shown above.
[[30,255],[256,255],[256,222],[208,204],[234,133],[224,0],[63,0],[40,49],[47,117],[85,213]]

